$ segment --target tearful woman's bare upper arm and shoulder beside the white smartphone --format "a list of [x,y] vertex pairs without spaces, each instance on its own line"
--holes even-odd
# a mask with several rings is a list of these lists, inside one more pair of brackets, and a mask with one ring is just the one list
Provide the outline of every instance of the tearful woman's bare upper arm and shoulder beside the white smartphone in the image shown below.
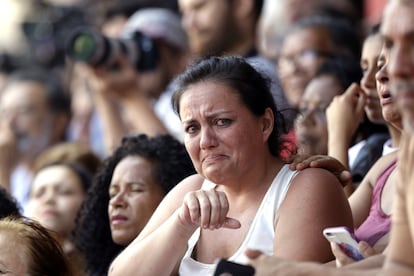
[[326,170],[303,170],[293,179],[279,209],[274,255],[300,261],[330,261],[332,252],[322,231],[332,226],[353,227],[342,186]]

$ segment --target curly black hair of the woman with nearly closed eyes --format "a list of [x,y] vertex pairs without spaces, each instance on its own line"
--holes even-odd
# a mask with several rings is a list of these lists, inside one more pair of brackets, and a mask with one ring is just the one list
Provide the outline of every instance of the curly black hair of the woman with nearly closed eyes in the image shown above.
[[93,179],[73,232],[75,244],[84,254],[88,275],[107,275],[111,261],[124,248],[112,241],[108,217],[109,186],[117,164],[128,156],[148,158],[154,178],[168,193],[178,182],[195,173],[182,143],[171,135],[126,136],[114,153],[104,160]]

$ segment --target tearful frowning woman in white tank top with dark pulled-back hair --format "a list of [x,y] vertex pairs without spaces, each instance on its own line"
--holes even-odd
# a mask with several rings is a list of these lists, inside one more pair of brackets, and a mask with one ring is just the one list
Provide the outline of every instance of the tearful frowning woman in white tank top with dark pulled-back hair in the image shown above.
[[164,198],[109,275],[212,275],[217,258],[245,263],[246,248],[331,260],[322,230],[352,227],[349,205],[333,174],[281,160],[283,120],[266,79],[243,58],[211,57],[177,87],[173,106],[197,174]]

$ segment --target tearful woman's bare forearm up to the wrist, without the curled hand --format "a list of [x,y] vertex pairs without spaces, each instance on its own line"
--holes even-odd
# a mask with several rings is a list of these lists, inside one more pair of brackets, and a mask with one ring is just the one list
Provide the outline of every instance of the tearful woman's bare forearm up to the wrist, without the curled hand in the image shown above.
[[128,245],[113,261],[108,275],[171,275],[193,232],[184,227],[174,213],[147,237],[138,237]]

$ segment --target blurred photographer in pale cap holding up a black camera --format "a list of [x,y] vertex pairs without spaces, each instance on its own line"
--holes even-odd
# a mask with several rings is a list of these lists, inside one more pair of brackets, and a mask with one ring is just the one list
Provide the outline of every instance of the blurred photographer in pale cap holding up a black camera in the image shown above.
[[179,15],[163,8],[136,11],[116,39],[86,28],[71,36],[67,54],[82,61],[74,68],[92,92],[105,154],[128,133],[182,140],[171,82],[188,64],[188,53]]

